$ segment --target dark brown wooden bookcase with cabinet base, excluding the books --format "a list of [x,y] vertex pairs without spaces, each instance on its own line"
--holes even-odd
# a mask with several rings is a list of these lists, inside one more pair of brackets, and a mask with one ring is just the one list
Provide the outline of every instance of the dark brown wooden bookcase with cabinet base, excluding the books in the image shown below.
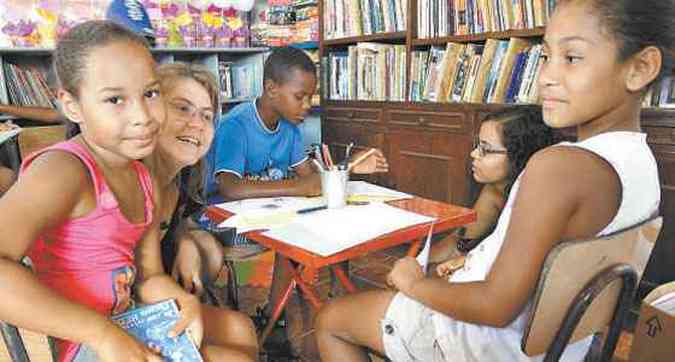
[[[421,16],[418,4],[423,0],[407,0],[408,14],[405,31],[384,32],[358,36],[326,37],[326,17],[335,14],[335,2],[320,2],[320,54],[326,70],[323,83],[330,85],[336,77],[329,62],[335,54],[344,54],[350,46],[361,42],[404,45],[405,55],[405,100],[359,100],[331,99],[331,89],[322,84],[322,138],[341,154],[344,147],[355,141],[360,147],[379,147],[389,160],[387,175],[371,178],[371,181],[415,195],[470,206],[477,185],[471,177],[469,154],[480,126],[480,120],[490,112],[510,107],[531,107],[533,104],[485,103],[485,102],[431,102],[411,101],[410,79],[412,53],[428,51],[432,47],[445,47],[447,43],[485,44],[489,39],[509,40],[521,38],[538,42],[544,35],[544,24],[524,29],[478,32],[476,34],[437,35],[418,37]],[[340,0],[349,1],[349,0]],[[356,0],[359,4],[370,1]],[[406,0],[404,0],[406,1]],[[528,0],[523,0],[525,3]],[[554,1],[533,0],[538,5]],[[434,2],[442,4],[443,2]],[[471,3],[469,2],[464,2]],[[476,2],[473,2],[474,4]],[[478,2],[480,3],[480,2]],[[488,2],[483,2],[487,4]],[[510,1],[493,2],[508,6]],[[506,4],[506,5],[505,5]],[[440,5],[439,5],[440,6]],[[349,8],[348,6],[346,8]],[[539,9],[541,11],[541,9]],[[427,19],[434,19],[433,16]],[[328,19],[331,23],[331,20]],[[334,22],[334,21],[333,21]],[[332,23],[331,23],[332,24]],[[339,63],[339,62],[338,62]],[[354,82],[354,79],[349,79]],[[358,97],[357,97],[358,98]],[[643,287],[644,295],[652,287],[675,278],[675,109],[648,107],[642,112],[643,131],[652,147],[662,187],[661,215],[665,224],[647,266]],[[337,152],[337,153],[336,153]],[[670,245],[670,246],[669,246]]]

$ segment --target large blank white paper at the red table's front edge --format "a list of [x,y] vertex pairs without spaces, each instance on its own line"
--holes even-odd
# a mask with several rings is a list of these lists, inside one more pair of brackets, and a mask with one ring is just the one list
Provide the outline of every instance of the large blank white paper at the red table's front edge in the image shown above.
[[372,203],[299,215],[288,225],[263,235],[328,256],[392,231],[432,220],[434,218],[387,204]]

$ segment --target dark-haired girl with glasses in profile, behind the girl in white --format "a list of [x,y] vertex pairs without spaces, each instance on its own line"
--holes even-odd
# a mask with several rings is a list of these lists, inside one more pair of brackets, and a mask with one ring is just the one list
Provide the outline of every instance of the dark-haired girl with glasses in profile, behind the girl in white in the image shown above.
[[490,235],[527,160],[557,141],[537,109],[507,110],[483,120],[471,152],[473,178],[483,185],[473,204],[478,217],[476,222],[433,245],[430,261],[442,263],[436,269],[439,276],[448,276],[462,267],[464,254]]

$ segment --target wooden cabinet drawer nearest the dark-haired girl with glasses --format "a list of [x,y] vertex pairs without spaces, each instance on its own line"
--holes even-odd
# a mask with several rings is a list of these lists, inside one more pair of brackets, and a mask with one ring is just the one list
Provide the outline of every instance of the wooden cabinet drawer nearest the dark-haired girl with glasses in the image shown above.
[[450,132],[468,132],[464,113],[390,111],[388,122],[396,126],[439,128]]

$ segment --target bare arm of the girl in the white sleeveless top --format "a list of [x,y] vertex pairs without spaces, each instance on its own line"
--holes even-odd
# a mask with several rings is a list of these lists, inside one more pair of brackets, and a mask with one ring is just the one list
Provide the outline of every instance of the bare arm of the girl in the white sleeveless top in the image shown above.
[[616,213],[618,194],[614,171],[589,152],[540,152],[525,170],[504,244],[484,282],[423,278],[412,258],[400,260],[389,279],[406,295],[450,317],[506,326],[531,298],[551,248],[602,230]]

